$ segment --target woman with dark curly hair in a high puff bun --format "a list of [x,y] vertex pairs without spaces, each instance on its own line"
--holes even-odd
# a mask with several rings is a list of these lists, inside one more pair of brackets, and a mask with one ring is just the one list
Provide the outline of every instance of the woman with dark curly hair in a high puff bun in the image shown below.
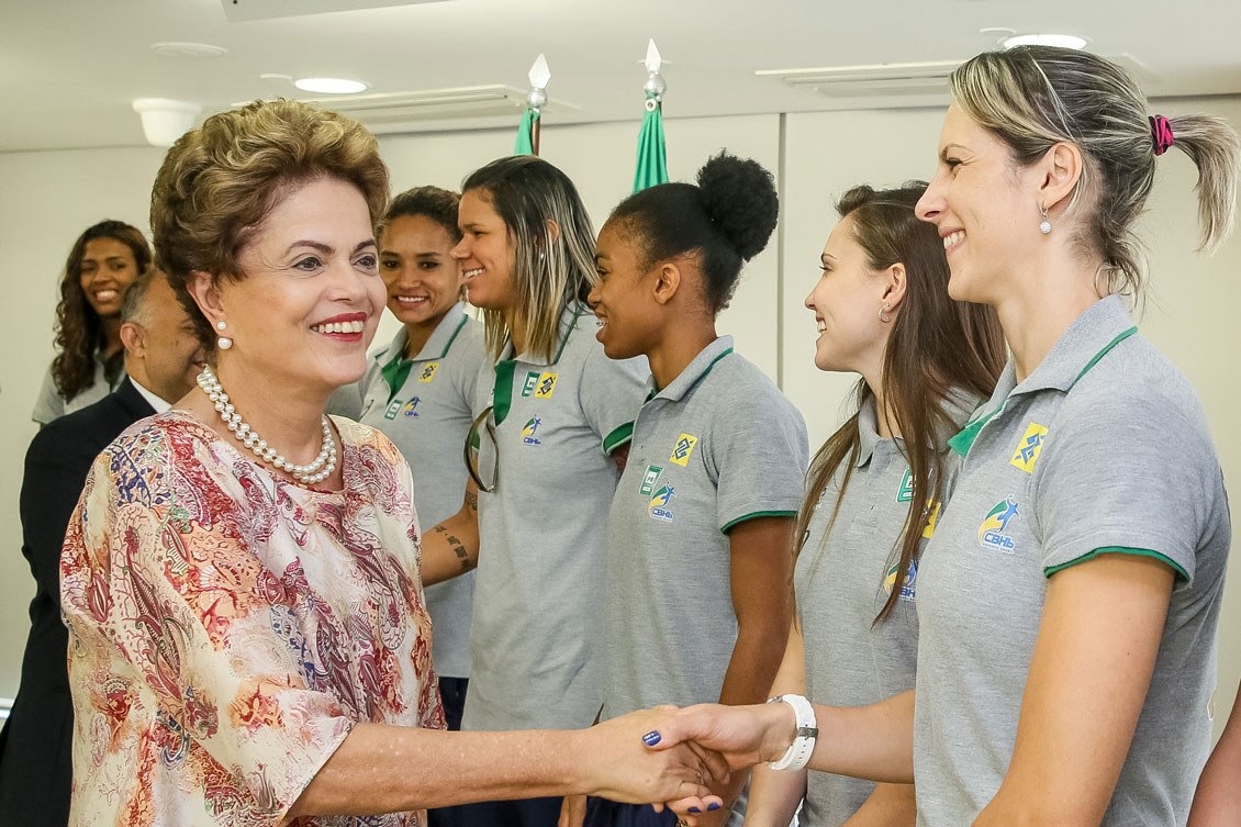
[[[797,409],[716,333],[779,209],[771,174],[722,153],[697,185],[625,199],[599,232],[589,302],[612,359],[645,355],[647,401],[608,515],[603,718],[767,697],[788,636],[791,534],[808,447]],[[741,821],[746,774],[699,825]],[[670,811],[568,800],[562,825],[675,825]]]

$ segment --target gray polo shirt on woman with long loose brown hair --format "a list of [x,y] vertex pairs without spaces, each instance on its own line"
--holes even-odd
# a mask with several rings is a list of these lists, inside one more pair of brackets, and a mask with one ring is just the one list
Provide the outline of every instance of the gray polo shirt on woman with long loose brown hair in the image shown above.
[[[962,425],[977,402],[957,394],[946,409]],[[875,623],[896,585],[901,530],[913,497],[905,443],[879,435],[874,397],[858,412],[858,435],[849,484],[840,494],[849,471],[841,464],[814,504],[794,572],[805,641],[807,697],[833,707],[864,707],[912,689],[918,654],[920,560],[910,564],[892,613]],[[941,443],[941,450],[948,448]],[[927,503],[920,555],[934,535],[952,492],[959,464],[953,457],[946,457],[939,495]],[[834,512],[835,523],[828,533]],[[810,772],[800,823],[840,827],[874,789],[871,781]]]

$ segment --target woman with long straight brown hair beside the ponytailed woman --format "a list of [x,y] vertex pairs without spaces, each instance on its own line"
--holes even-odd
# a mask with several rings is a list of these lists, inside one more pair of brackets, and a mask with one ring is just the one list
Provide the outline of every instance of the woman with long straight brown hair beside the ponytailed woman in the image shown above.
[[[920,556],[956,477],[947,440],[1004,364],[994,312],[948,298],[943,245],[913,212],[925,191],[846,191],[805,298],[815,366],[860,379],[853,416],[810,464],[794,534],[799,622],[771,695],[861,705],[913,688]],[[911,785],[759,767],[746,825],[788,825],[799,803],[810,827],[915,821]]]

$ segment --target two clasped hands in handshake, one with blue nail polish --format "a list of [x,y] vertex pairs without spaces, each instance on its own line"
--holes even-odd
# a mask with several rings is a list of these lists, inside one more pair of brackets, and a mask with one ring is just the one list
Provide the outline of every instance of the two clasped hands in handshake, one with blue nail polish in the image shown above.
[[[788,704],[656,707],[581,730],[581,777],[589,795],[673,810],[688,825],[719,810],[728,776],[779,759],[793,743]],[[565,821],[562,820],[562,823]]]

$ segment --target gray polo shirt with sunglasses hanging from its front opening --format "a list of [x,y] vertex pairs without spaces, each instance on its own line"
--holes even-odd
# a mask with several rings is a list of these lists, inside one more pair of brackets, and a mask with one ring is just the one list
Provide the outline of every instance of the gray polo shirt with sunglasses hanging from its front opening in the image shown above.
[[588,726],[602,705],[603,519],[619,476],[608,454],[630,438],[649,369],[608,359],[597,329],[575,304],[550,361],[510,346],[479,382],[499,478],[479,493],[463,729]]

